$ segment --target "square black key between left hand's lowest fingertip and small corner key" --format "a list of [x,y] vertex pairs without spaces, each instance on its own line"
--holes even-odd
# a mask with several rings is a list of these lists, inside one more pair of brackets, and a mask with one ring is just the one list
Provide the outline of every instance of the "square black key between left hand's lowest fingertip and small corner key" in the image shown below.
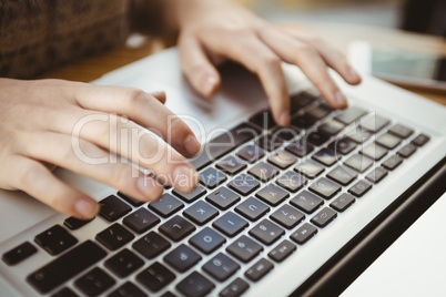
[[34,242],[47,250],[48,254],[55,256],[75,245],[78,239],[61,226],[54,225],[36,235]]

